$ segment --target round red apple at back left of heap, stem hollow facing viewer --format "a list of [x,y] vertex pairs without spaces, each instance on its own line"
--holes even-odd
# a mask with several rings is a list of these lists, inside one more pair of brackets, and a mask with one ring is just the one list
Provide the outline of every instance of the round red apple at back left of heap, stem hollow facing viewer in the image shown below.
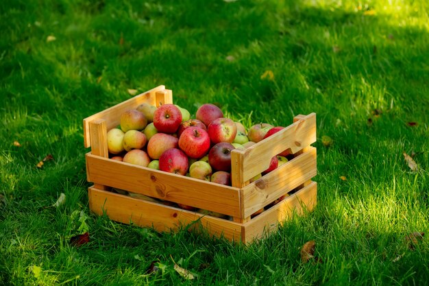
[[158,132],[174,133],[182,123],[182,112],[174,104],[162,104],[154,112],[154,126]]

